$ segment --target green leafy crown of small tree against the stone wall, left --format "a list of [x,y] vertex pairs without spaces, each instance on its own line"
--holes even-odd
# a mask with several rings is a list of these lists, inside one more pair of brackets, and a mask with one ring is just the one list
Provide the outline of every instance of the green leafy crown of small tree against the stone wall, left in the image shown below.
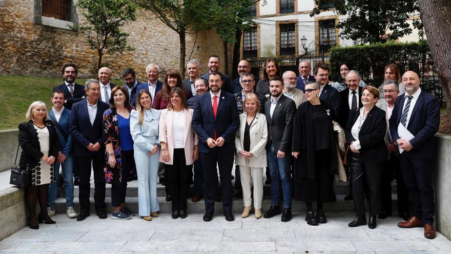
[[121,31],[122,26],[136,21],[136,6],[130,0],[78,0],[77,7],[87,21],[79,29],[91,49],[98,52],[98,68],[103,50],[110,53],[133,50],[127,44],[129,34]]

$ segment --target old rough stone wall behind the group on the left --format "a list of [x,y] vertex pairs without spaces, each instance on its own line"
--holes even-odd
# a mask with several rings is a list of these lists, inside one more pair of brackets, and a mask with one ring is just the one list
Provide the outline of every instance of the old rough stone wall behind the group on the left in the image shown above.
[[[0,2],[0,74],[60,77],[61,66],[73,62],[79,67],[79,77],[92,76],[97,55],[89,48],[79,31],[34,24],[35,0],[4,0]],[[78,15],[79,24],[83,16]],[[150,11],[139,10],[136,22],[124,29],[130,36],[134,51],[115,54],[106,52],[103,64],[113,70],[113,78],[120,79],[126,67],[136,70],[138,78],[146,80],[145,67],[157,63],[163,70],[179,69],[179,37]],[[193,49],[195,34],[187,34],[187,61]],[[208,56],[224,58],[222,41],[214,30],[201,31],[191,58],[207,71]],[[229,47],[232,58],[233,45]],[[231,61],[230,61],[231,62]],[[221,66],[224,71],[224,66]]]

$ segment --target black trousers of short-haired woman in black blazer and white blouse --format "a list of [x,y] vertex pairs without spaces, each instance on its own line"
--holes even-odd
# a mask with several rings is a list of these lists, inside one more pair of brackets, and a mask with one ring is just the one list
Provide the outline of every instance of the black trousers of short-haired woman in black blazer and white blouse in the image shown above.
[[382,175],[381,162],[365,162],[359,153],[353,153],[351,159],[352,191],[356,214],[365,214],[365,183],[368,187],[368,200],[370,201],[370,215],[376,216],[380,209],[380,181]]

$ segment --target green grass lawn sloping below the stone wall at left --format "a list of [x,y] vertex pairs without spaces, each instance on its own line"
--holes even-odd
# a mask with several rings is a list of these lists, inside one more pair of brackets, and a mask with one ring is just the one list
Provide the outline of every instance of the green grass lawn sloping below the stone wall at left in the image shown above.
[[[84,85],[87,79],[77,79]],[[113,81],[119,85],[124,81]],[[54,86],[63,83],[63,79],[51,79],[34,76],[0,75],[0,130],[15,129],[25,122],[25,113],[34,101],[43,101],[51,108],[50,96]]]

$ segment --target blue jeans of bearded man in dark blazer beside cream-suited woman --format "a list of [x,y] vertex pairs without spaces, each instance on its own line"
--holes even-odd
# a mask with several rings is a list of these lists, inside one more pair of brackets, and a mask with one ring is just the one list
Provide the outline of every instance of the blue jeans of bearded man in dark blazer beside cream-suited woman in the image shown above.
[[291,208],[293,181],[290,173],[291,154],[285,153],[285,158],[277,158],[277,151],[271,143],[267,151],[268,167],[271,174],[271,205],[279,205],[279,179],[282,183],[283,206]]

